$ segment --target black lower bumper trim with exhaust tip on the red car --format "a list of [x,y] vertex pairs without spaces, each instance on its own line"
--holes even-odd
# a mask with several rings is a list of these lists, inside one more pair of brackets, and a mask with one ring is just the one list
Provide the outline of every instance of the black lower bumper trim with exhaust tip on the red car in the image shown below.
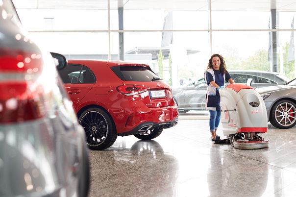
[[123,132],[123,133],[118,133],[119,136],[128,136],[128,135],[133,135],[137,133],[143,133],[147,130],[150,129],[159,129],[159,128],[170,128],[175,126],[178,123],[178,118],[175,118],[173,121],[165,122],[165,123],[154,123],[154,122],[145,122],[141,123],[138,126],[136,126],[134,129]]

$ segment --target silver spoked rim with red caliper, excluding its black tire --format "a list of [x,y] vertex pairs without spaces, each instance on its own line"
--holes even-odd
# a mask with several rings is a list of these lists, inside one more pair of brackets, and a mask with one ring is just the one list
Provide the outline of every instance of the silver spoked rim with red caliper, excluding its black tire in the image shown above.
[[274,117],[278,124],[289,127],[296,121],[296,108],[291,102],[279,103],[274,110]]

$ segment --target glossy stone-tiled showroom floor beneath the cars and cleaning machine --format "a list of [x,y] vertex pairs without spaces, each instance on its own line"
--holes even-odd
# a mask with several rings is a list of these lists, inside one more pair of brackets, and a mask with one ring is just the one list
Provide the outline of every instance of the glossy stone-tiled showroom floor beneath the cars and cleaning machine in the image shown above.
[[241,150],[214,144],[207,118],[180,115],[154,140],[90,150],[89,197],[296,197],[296,127],[271,127],[269,148]]

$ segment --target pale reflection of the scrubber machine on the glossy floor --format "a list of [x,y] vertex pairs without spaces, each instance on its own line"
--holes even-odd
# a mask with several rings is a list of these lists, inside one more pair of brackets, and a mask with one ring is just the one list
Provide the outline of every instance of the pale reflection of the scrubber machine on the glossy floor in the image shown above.
[[[253,163],[239,156],[234,160],[228,151],[210,152],[210,170],[207,174],[209,197],[228,196],[261,197],[267,188],[267,165]],[[262,178],[260,181],[258,179]]]

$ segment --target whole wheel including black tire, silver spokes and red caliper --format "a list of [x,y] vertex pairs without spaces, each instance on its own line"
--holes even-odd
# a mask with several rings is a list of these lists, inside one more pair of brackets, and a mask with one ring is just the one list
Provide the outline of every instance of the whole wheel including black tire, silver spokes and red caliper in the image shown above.
[[276,128],[292,128],[296,125],[296,104],[291,100],[280,100],[271,109],[271,124]]

